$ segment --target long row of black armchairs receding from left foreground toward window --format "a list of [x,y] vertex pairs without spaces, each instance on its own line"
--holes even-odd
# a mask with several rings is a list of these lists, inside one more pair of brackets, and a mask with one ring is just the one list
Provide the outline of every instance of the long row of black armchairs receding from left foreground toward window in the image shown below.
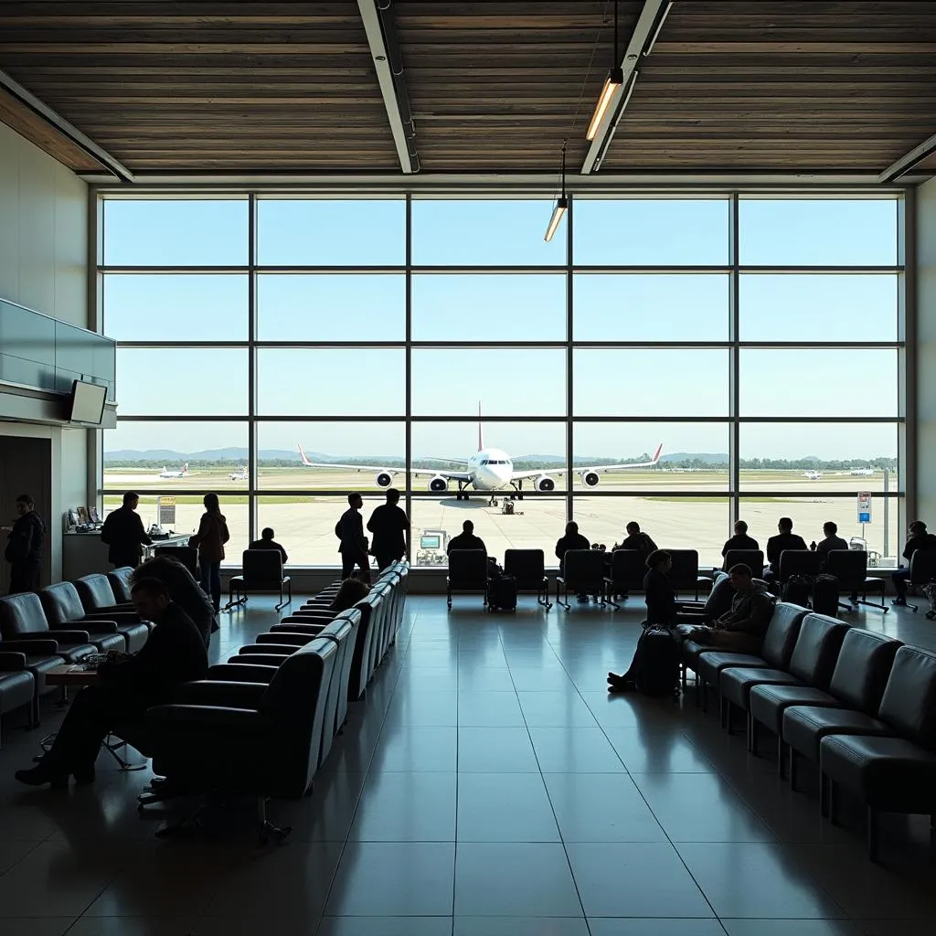
[[[362,698],[402,625],[407,563],[394,563],[358,604],[335,616],[340,583],[241,647],[206,679],[179,687],[171,705],[148,709],[121,737],[165,777],[142,804],[180,794],[256,797],[266,839],[281,839],[269,798],[312,792],[315,772]],[[128,737],[129,736],[129,737]]]

